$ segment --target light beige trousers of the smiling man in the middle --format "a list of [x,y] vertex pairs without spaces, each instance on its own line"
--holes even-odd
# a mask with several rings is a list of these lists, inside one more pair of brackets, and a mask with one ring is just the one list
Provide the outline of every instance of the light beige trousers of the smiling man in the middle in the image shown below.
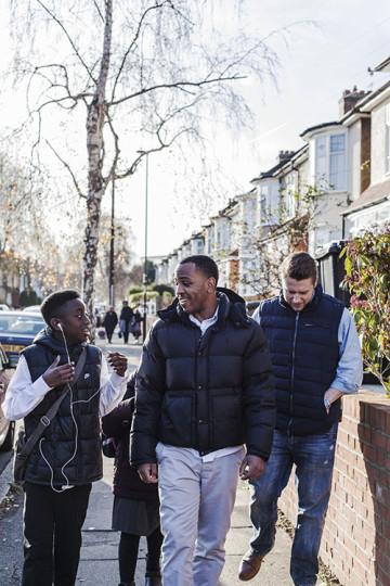
[[224,543],[245,455],[210,462],[193,450],[158,444],[165,586],[216,586],[224,564]]

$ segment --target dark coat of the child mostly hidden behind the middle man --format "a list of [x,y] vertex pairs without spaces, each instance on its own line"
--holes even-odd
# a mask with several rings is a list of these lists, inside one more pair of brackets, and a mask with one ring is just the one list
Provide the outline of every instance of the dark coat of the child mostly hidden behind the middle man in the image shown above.
[[129,379],[123,399],[102,418],[103,433],[115,438],[113,493],[134,500],[158,499],[157,484],[144,483],[129,462],[130,426],[134,410],[135,372]]

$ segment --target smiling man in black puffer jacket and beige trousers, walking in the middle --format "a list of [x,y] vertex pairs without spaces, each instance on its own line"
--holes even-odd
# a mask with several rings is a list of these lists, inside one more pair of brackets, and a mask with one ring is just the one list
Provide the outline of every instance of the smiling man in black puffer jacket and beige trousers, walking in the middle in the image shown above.
[[211,258],[180,263],[178,296],[159,311],[136,379],[131,462],[144,482],[159,482],[169,586],[217,584],[238,474],[259,477],[272,445],[265,336],[217,281]]

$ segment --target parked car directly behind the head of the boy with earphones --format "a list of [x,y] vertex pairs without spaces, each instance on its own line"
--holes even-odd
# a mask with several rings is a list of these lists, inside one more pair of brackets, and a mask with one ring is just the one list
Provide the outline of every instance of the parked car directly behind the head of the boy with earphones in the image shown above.
[[12,367],[16,367],[20,352],[29,346],[46,327],[42,316],[28,311],[0,313],[0,343]]

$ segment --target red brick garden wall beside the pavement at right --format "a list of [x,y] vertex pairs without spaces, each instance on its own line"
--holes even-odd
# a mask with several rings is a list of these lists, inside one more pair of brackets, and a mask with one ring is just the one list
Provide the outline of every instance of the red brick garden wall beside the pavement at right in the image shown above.
[[[390,586],[390,399],[362,391],[342,400],[320,557],[343,586]],[[294,474],[280,508],[295,524]]]

